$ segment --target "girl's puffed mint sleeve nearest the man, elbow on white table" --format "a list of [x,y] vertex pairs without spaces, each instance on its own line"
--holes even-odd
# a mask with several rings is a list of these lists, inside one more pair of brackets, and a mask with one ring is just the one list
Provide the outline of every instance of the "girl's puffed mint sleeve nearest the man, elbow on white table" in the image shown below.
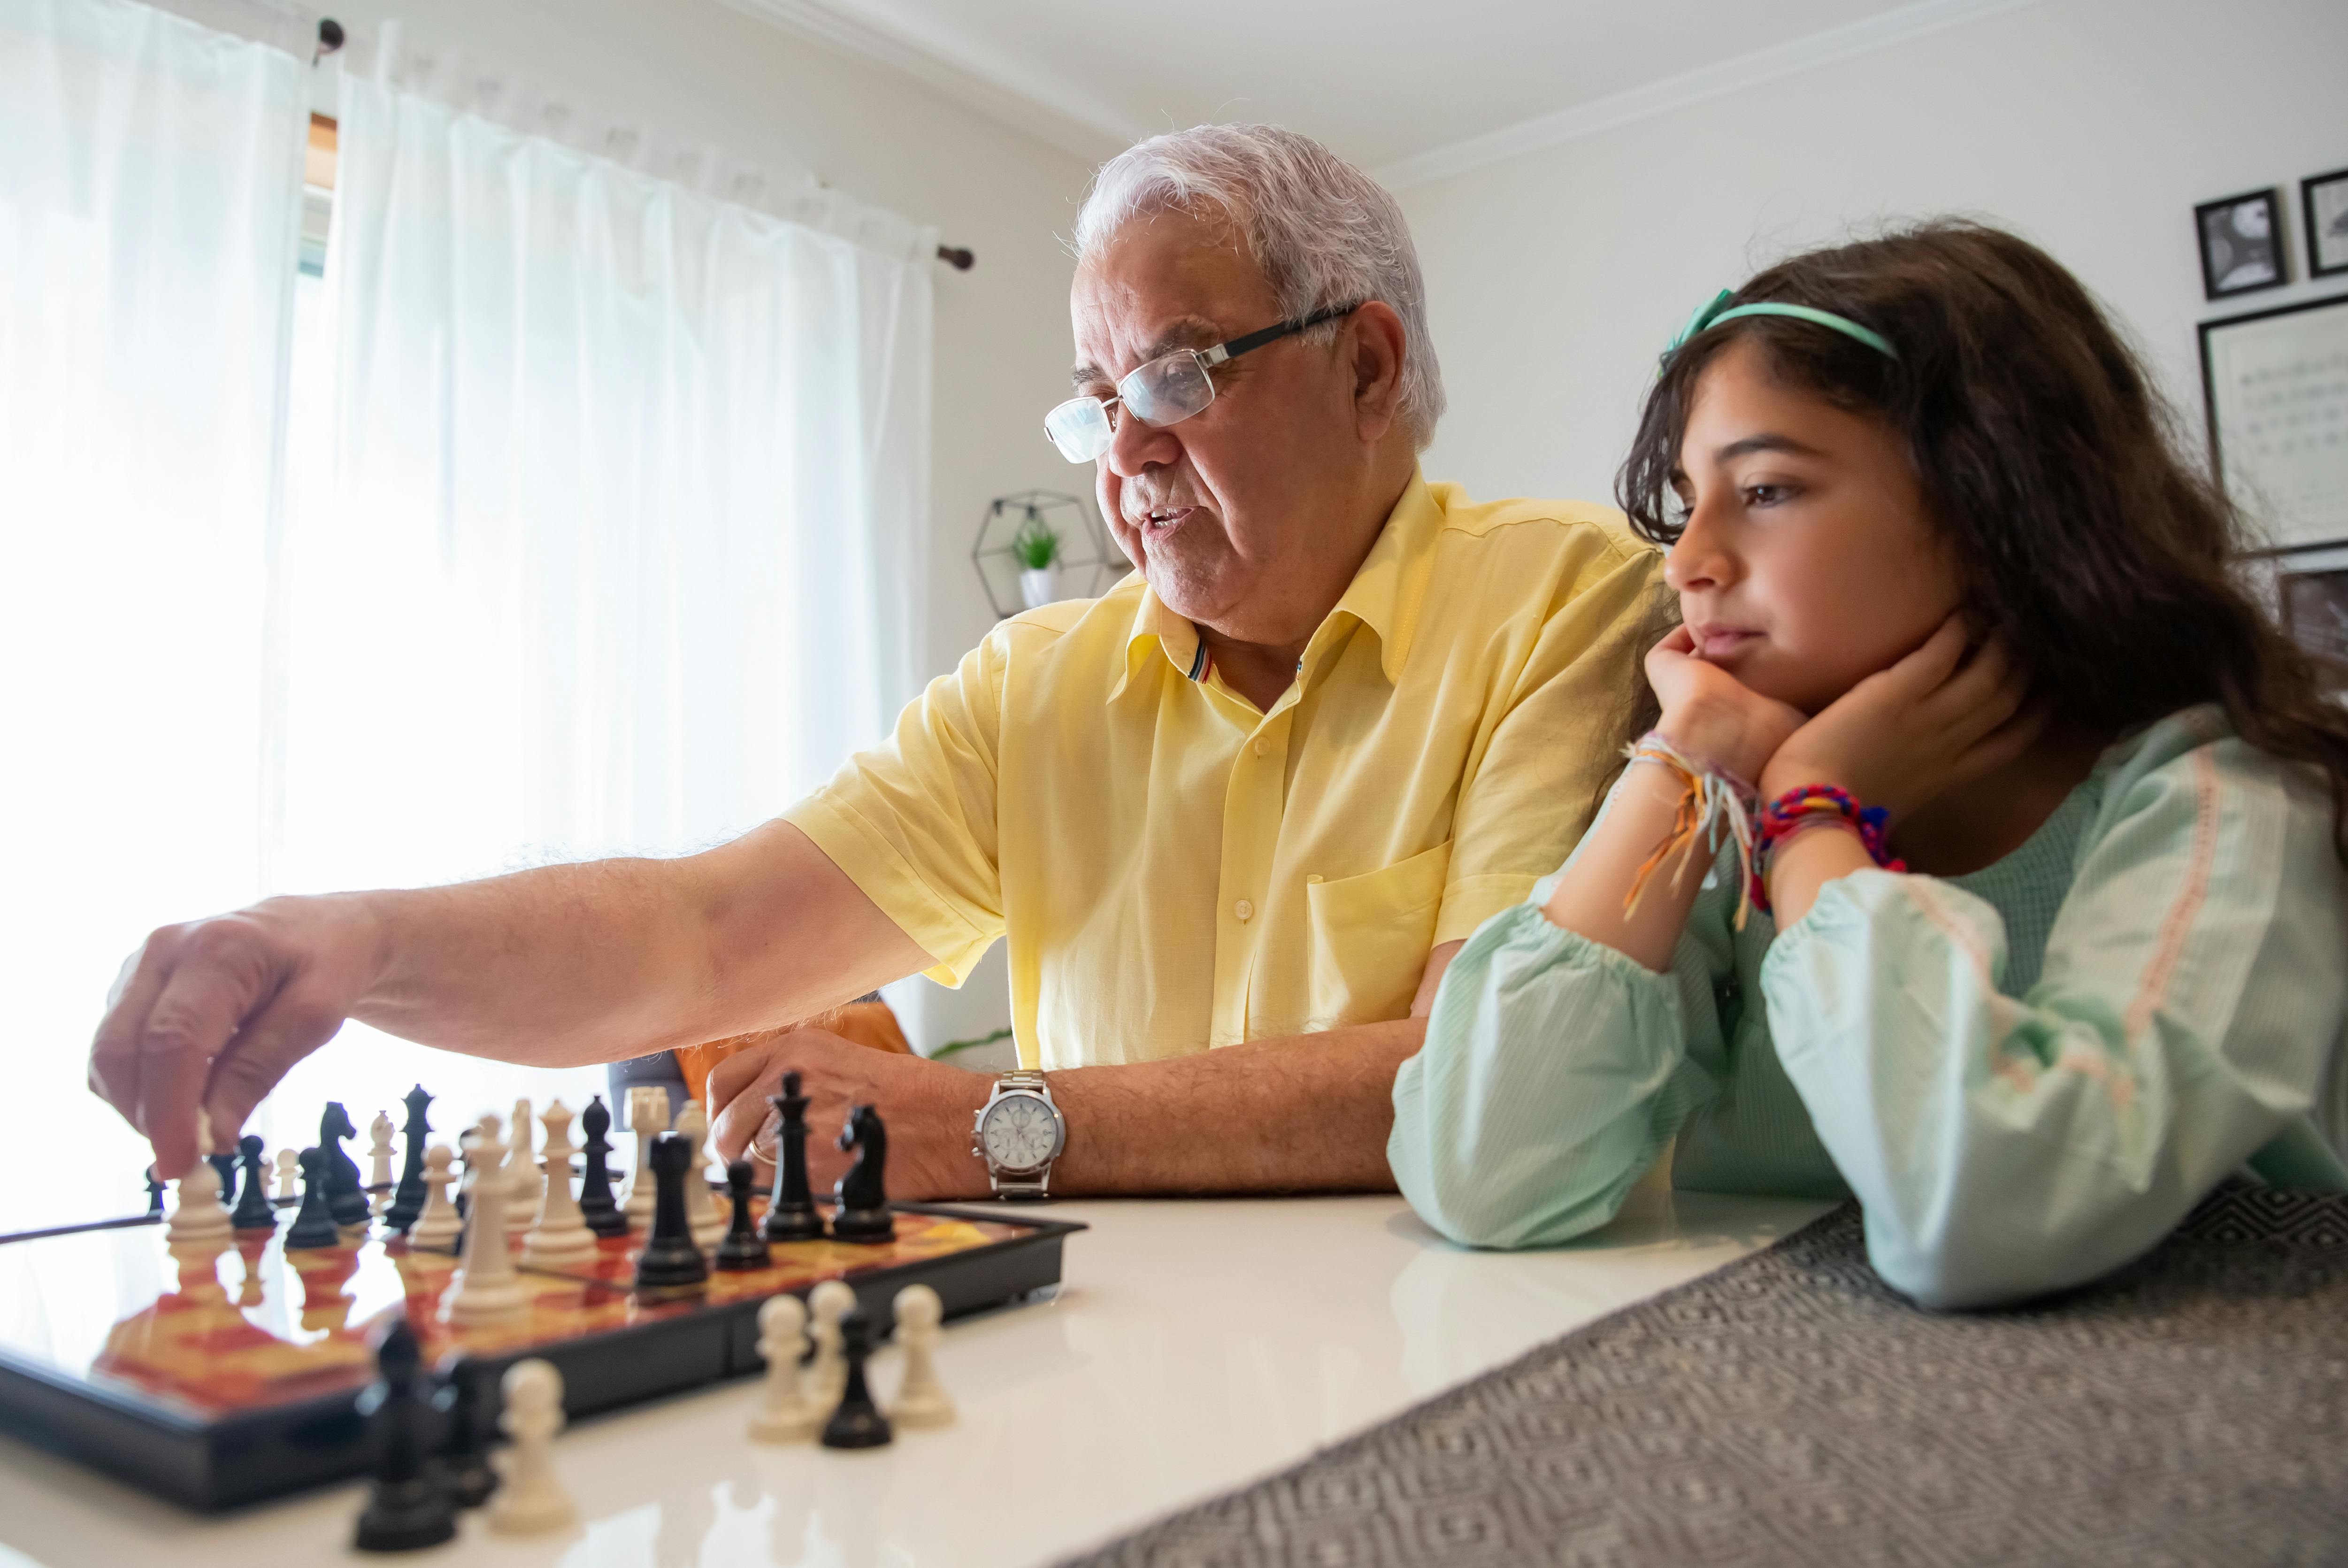
[[1468,939],[1395,1077],[1388,1164],[1453,1242],[1597,1230],[1723,1075],[1714,984],[1733,965],[1733,857],[1698,894],[1669,974],[1550,925],[1552,887]]

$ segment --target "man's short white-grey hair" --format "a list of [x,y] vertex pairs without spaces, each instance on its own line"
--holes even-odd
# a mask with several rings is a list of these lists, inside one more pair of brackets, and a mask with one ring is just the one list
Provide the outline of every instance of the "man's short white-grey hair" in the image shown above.
[[[1193,124],[1139,141],[1092,176],[1075,216],[1078,261],[1134,218],[1219,209],[1247,237],[1280,298],[1301,322],[1329,305],[1385,300],[1402,317],[1402,423],[1425,451],[1444,413],[1444,373],[1428,336],[1428,286],[1402,207],[1329,148],[1277,124]],[[1336,324],[1308,340],[1327,343]]]

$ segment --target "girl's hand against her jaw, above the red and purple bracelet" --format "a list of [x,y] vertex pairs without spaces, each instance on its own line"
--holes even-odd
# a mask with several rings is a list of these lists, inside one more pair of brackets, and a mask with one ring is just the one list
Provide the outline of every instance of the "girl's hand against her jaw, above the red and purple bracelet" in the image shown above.
[[1935,796],[2022,756],[2045,725],[2029,681],[1996,641],[1965,660],[1956,615],[1923,648],[1836,697],[1777,746],[1761,798],[1836,784],[1900,822]]

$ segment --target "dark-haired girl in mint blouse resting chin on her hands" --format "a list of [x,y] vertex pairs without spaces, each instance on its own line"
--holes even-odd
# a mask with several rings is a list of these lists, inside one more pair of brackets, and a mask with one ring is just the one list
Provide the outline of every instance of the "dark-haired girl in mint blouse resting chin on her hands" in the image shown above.
[[1442,979],[1388,1148],[1421,1216],[1561,1242],[1676,1138],[1681,1188],[1857,1195],[1963,1307],[2233,1171],[2348,1188],[2348,714],[2069,272],[1956,223],[1770,268],[1674,343],[1620,493],[1672,549],[1660,721]]

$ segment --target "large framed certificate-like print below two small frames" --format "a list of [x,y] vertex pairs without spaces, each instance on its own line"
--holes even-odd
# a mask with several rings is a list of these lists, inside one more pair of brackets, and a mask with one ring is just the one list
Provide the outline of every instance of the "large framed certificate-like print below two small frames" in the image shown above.
[[2209,465],[2278,547],[2348,545],[2348,293],[2202,322]]

